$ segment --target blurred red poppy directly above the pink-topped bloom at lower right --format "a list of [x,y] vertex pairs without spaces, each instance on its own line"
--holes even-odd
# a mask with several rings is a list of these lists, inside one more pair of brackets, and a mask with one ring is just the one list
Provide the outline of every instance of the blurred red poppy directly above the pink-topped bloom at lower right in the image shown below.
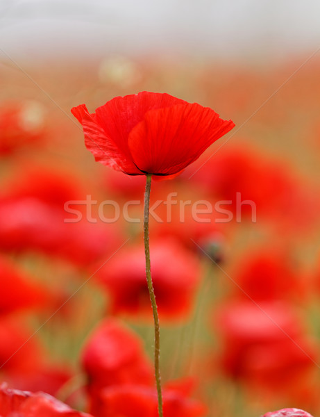
[[[234,280],[239,286],[237,296],[261,300],[303,298],[302,279],[298,279],[297,267],[289,254],[278,248],[262,247],[242,255],[235,265]],[[233,286],[234,287],[234,286]]]

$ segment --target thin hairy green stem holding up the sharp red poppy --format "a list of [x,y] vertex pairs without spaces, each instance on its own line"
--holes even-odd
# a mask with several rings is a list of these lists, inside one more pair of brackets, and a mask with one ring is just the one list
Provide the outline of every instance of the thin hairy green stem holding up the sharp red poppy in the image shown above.
[[149,205],[150,205],[150,191],[151,191],[151,174],[146,174],[146,190],[144,192],[144,253],[146,255],[146,282],[148,284],[149,295],[152,305],[153,322],[155,331],[155,345],[154,345],[154,367],[155,367],[155,383],[158,392],[158,411],[159,417],[163,417],[162,412],[162,390],[161,390],[161,375],[160,375],[160,325],[158,316],[158,307],[155,302],[155,293],[153,290],[151,278],[151,263],[150,263],[150,247],[149,247]]

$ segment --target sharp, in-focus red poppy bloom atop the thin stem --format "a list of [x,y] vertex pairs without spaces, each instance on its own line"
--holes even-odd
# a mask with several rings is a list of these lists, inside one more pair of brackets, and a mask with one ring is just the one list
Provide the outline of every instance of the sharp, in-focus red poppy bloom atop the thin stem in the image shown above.
[[210,108],[146,91],[71,113],[96,161],[129,175],[177,174],[235,126]]

